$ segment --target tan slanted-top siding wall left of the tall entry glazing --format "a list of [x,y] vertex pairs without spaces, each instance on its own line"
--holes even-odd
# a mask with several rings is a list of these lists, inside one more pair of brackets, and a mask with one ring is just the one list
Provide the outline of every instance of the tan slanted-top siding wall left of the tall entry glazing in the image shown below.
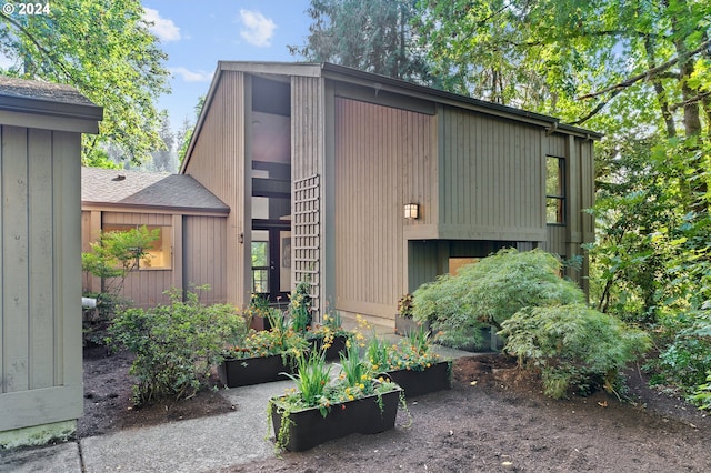
[[230,208],[226,239],[227,300],[249,301],[251,180],[247,155],[246,119],[251,110],[242,72],[223,71],[197,139],[186,173],[196,178]]

